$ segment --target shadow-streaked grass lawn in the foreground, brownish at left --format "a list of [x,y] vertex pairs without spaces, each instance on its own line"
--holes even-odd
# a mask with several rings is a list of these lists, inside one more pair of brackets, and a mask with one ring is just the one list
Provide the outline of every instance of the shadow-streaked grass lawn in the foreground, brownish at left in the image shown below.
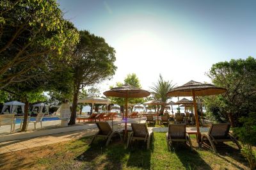
[[0,155],[0,169],[249,169],[233,143],[218,147],[214,154],[197,148],[195,136],[191,138],[193,151],[179,144],[171,152],[164,133],[154,133],[150,150],[136,142],[125,149],[117,139],[107,148],[100,138],[88,146],[92,137],[84,137]]

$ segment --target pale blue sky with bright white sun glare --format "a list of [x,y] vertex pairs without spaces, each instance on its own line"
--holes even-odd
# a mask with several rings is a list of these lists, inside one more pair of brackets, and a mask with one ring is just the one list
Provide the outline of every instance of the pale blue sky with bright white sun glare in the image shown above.
[[65,19],[102,36],[118,67],[106,91],[136,73],[143,89],[159,79],[210,82],[214,63],[256,56],[256,1],[59,0]]

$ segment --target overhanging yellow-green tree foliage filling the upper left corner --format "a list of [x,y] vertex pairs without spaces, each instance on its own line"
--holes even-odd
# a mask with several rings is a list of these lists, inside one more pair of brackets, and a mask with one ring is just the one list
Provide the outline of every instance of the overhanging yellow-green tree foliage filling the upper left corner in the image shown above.
[[0,89],[27,81],[53,58],[63,58],[79,39],[55,0],[0,3]]

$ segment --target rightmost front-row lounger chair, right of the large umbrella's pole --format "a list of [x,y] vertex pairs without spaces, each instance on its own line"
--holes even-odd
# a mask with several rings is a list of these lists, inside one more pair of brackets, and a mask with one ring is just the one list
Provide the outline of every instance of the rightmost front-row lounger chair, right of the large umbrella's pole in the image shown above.
[[241,150],[240,144],[234,136],[229,133],[229,129],[230,123],[212,124],[208,133],[202,133],[202,144],[204,144],[205,141],[209,141],[212,150],[216,153],[215,144],[232,141],[237,145],[239,150]]

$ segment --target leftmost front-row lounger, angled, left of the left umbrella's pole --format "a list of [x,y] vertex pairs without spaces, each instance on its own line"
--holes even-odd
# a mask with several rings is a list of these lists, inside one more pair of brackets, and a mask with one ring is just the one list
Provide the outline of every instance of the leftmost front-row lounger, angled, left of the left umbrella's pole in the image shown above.
[[106,146],[108,146],[109,142],[111,141],[111,138],[113,135],[119,135],[120,139],[122,140],[121,134],[118,131],[113,131],[113,129],[109,126],[107,121],[99,121],[96,122],[97,127],[99,128],[99,132],[97,132],[90,143],[90,145],[93,143],[95,138],[97,136],[105,137],[107,139]]

